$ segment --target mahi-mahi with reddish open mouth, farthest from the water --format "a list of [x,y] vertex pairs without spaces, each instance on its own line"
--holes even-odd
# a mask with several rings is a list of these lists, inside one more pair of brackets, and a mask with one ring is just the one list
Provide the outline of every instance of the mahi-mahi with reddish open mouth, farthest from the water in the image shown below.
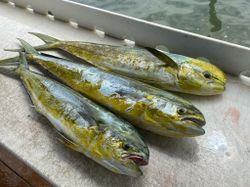
[[72,89],[28,69],[24,54],[18,68],[0,66],[22,80],[35,109],[55,127],[60,141],[107,169],[140,176],[149,150],[128,122]]

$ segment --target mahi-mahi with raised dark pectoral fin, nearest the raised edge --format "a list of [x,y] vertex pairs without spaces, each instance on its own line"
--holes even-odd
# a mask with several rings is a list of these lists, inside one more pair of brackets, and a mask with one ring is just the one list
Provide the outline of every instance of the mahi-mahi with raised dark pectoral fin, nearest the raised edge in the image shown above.
[[218,67],[202,59],[149,47],[62,41],[41,33],[31,34],[46,43],[36,49],[61,49],[98,68],[160,89],[195,95],[216,95],[225,90],[226,75]]

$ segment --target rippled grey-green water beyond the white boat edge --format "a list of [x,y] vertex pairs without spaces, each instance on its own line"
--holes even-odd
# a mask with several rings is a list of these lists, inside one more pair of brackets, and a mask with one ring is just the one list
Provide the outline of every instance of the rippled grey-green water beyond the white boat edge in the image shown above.
[[250,47],[250,0],[72,0]]

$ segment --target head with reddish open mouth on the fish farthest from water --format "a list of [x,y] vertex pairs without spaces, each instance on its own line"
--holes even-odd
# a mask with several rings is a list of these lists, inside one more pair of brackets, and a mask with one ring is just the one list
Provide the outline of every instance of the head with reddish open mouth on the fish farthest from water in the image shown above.
[[119,174],[140,176],[142,175],[140,166],[148,164],[148,147],[134,127],[128,129],[122,127],[122,129],[122,133],[111,129],[106,134],[106,141],[102,146],[108,155],[105,160],[108,165],[106,167]]

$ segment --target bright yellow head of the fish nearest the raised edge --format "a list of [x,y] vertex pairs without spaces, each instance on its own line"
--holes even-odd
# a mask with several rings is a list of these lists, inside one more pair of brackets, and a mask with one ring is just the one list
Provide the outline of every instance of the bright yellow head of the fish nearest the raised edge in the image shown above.
[[225,90],[226,75],[209,62],[186,58],[180,65],[178,82],[181,89],[186,93],[217,95]]

